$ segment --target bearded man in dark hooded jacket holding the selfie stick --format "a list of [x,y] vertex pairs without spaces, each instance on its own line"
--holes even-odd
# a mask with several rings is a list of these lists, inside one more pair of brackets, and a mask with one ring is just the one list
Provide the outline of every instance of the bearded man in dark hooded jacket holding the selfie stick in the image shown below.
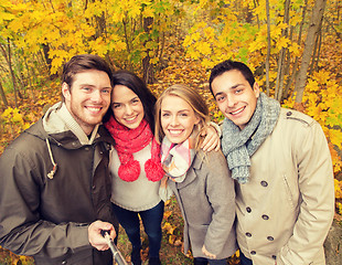
[[64,65],[61,103],[0,157],[0,244],[35,264],[113,264],[103,230],[110,209],[111,71],[90,54]]

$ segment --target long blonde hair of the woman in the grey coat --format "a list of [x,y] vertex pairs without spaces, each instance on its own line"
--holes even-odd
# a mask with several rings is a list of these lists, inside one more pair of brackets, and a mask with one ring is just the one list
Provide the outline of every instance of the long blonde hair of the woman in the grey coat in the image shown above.
[[[183,84],[175,84],[167,89],[163,91],[163,93],[160,95],[156,103],[156,129],[154,129],[154,136],[157,141],[160,144],[165,136],[163,132],[163,129],[161,127],[160,121],[160,115],[161,115],[161,103],[167,96],[178,96],[185,100],[194,110],[195,115],[200,118],[200,123],[196,125],[196,129],[199,132],[207,127],[207,124],[210,121],[209,117],[209,108],[204,102],[204,99],[201,97],[201,95],[193,88],[185,86]],[[199,134],[200,135],[200,134]],[[200,145],[201,138],[197,138],[196,147]]]

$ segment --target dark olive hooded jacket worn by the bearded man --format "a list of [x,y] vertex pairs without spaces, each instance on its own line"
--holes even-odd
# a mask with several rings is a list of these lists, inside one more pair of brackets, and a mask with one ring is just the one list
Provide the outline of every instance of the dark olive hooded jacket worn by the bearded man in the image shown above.
[[[38,265],[113,264],[109,251],[88,243],[92,222],[117,225],[109,201],[113,140],[103,127],[98,134],[92,145],[82,145],[70,130],[47,135],[40,119],[6,149],[0,157],[2,247],[33,256]],[[53,176],[52,160],[57,163]]]

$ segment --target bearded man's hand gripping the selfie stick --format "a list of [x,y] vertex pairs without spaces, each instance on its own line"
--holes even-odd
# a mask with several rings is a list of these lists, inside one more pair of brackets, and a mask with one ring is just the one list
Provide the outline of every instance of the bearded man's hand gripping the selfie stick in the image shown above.
[[89,243],[98,251],[107,251],[109,248],[106,239],[101,235],[103,231],[107,231],[111,240],[116,237],[116,232],[111,223],[97,220],[88,227]]

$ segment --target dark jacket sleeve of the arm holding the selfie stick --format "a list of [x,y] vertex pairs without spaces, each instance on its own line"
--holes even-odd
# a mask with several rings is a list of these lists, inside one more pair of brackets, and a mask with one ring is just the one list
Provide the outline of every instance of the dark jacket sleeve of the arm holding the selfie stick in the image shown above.
[[50,258],[90,250],[87,224],[55,224],[41,216],[44,178],[39,176],[42,170],[39,167],[43,166],[33,159],[11,146],[0,157],[1,246],[19,255]]

